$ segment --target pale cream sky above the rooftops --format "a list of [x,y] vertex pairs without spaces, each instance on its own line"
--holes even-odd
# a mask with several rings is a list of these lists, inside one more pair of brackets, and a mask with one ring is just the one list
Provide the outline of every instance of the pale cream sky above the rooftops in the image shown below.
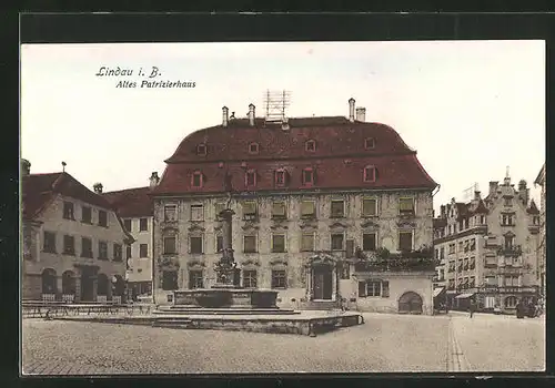
[[[131,76],[98,76],[102,68]],[[153,80],[194,88],[140,88]],[[147,78],[148,80],[148,78]],[[117,88],[119,81],[137,88]],[[349,116],[394,127],[441,184],[440,205],[477,184],[534,180],[545,162],[545,42],[102,43],[21,47],[21,157],[31,173],[65,171],[104,192],[145,186],[222,106],[263,115],[266,90],[291,93],[286,115]]]

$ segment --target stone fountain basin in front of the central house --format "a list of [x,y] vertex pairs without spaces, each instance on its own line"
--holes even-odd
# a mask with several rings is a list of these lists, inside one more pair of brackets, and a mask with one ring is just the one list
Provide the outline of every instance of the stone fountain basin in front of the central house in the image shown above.
[[275,308],[278,292],[252,288],[196,288],[173,292],[173,306],[203,308]]

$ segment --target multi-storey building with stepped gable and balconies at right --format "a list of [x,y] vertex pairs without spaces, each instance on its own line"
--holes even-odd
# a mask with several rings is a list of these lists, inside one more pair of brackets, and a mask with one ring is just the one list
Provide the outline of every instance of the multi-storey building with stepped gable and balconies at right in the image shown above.
[[515,190],[511,178],[490,183],[482,198],[441,206],[434,219],[438,287],[450,308],[513,310],[517,300],[537,298],[539,212],[526,182]]

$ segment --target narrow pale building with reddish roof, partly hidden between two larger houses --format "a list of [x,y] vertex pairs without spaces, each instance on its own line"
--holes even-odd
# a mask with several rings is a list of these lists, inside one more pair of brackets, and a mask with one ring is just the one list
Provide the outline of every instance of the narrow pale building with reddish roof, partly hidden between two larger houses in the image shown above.
[[128,292],[132,299],[152,295],[153,206],[149,194],[159,181],[154,172],[149,186],[103,193],[134,238],[133,244],[125,246]]

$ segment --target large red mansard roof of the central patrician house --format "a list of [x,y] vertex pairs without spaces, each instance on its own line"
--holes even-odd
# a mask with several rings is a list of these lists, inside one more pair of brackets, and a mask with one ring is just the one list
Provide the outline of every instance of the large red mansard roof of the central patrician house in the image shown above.
[[[350,122],[343,116],[289,119],[289,130],[264,124],[256,119],[230,120],[228,126],[216,125],[188,135],[169,157],[154,195],[223,193],[225,174],[231,175],[236,191],[246,191],[245,169],[258,174],[254,191],[280,190],[274,173],[284,169],[287,184],[282,190],[303,190],[303,169],[315,172],[314,188],[428,188],[437,183],[426,173],[411,150],[391,126],[381,123]],[[365,140],[374,146],[365,149]],[[315,151],[307,152],[305,143],[314,140]],[[259,152],[249,152],[249,144],[259,144]],[[198,155],[196,147],[205,144],[206,154]],[[375,182],[363,182],[365,166],[375,166]],[[202,173],[203,187],[192,187],[191,176]]]

